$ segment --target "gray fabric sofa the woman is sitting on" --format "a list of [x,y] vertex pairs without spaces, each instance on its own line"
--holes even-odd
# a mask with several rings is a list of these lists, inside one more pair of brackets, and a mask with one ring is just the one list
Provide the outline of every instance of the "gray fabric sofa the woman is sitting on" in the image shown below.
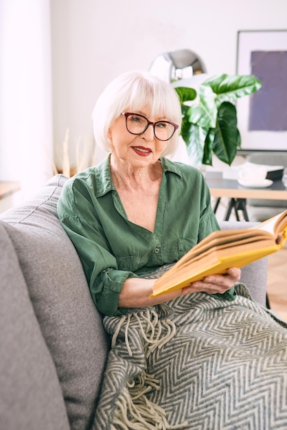
[[[109,349],[56,203],[67,178],[0,216],[0,429],[91,428]],[[223,222],[222,228],[249,223]],[[266,301],[266,258],[242,271]]]

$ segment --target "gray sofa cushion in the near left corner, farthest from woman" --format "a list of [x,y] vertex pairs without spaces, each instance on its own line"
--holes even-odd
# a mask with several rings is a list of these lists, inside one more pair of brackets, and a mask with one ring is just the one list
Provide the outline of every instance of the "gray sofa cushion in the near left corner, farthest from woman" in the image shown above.
[[0,429],[68,430],[56,368],[1,222],[0,249]]

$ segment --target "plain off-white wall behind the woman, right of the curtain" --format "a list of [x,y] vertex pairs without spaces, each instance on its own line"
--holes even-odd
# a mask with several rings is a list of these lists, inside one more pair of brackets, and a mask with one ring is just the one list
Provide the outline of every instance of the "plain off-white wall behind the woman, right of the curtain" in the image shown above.
[[188,48],[209,74],[236,73],[238,30],[287,27],[283,0],[51,0],[54,144],[91,137],[91,111],[108,82]]

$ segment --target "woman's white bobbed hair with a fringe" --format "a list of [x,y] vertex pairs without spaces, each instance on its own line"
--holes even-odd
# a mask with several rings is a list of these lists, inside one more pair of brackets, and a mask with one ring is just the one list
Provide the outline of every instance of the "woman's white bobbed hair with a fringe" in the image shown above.
[[149,72],[130,71],[113,80],[97,99],[92,113],[95,143],[111,151],[108,129],[122,112],[139,112],[148,106],[152,117],[165,117],[179,125],[163,148],[162,155],[172,154],[181,131],[181,104],[172,86]]

